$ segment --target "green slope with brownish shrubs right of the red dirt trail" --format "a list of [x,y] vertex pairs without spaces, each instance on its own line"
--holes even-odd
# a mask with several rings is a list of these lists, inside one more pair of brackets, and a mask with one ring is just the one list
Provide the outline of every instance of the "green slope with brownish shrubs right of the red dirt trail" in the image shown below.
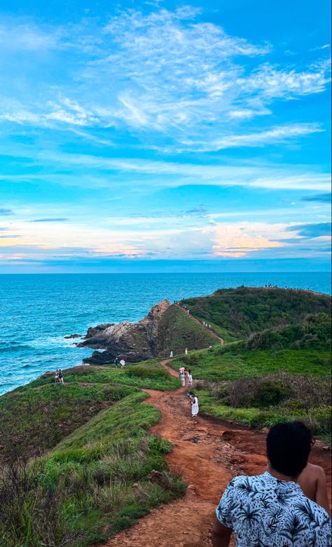
[[303,419],[331,435],[331,353],[305,349],[244,349],[243,342],[193,351],[172,367],[200,379],[200,410],[254,427]]

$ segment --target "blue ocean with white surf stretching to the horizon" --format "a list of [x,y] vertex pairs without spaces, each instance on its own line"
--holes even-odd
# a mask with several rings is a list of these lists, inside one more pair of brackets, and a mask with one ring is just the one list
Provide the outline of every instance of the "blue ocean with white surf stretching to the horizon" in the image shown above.
[[98,323],[136,321],[164,298],[209,295],[239,285],[310,288],[331,294],[328,273],[26,274],[0,276],[0,394],[43,372],[81,363],[66,335]]

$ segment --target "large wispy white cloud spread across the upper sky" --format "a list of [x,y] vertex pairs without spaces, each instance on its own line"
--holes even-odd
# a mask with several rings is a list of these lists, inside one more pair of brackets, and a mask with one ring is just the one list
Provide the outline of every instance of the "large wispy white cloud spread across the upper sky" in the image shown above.
[[[4,23],[0,41],[2,36],[8,55],[9,36],[14,57],[15,44],[40,53],[41,62],[45,51],[52,50],[50,67],[57,74],[61,68],[61,79],[45,78],[43,65],[40,81],[32,76],[29,81],[27,74],[25,85],[18,86],[25,93],[15,97],[20,107],[2,100],[0,120],[58,129],[129,129],[147,147],[160,150],[166,148],[160,141],[167,137],[171,151],[202,149],[202,134],[211,149],[216,141],[221,148],[227,142],[230,147],[252,147],[295,137],[267,128],[257,132],[260,139],[242,127],[256,116],[270,116],[276,100],[321,93],[329,81],[328,62],[319,60],[306,69],[270,65],[265,62],[270,44],[231,36],[198,15],[197,8],[183,6],[147,14],[129,10],[103,26],[88,17],[67,27]],[[38,62],[36,58],[34,75]],[[10,71],[10,56],[8,67]],[[42,100],[35,98],[39,86]],[[291,126],[294,130],[296,124],[286,125]],[[313,124],[301,126],[298,136],[312,133]],[[210,149],[208,144],[205,148]]]

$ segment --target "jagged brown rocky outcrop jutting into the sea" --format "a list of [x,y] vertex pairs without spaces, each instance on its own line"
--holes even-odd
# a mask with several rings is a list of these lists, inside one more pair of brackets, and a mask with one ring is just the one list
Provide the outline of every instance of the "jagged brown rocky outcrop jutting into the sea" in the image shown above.
[[162,300],[162,302],[155,304],[148,315],[138,323],[123,321],[117,325],[106,323],[90,327],[85,340],[78,344],[78,347],[104,349],[105,351],[94,351],[92,356],[83,359],[83,362],[113,363],[113,360],[118,357],[135,363],[155,357],[158,351],[158,325],[170,305],[169,300]]

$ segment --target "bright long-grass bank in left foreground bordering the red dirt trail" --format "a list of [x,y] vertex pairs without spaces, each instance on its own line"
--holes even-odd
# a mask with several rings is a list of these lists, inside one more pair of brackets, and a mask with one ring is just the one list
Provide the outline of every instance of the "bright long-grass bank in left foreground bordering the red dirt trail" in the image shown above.
[[[144,404],[146,397],[132,393],[99,412],[62,440],[53,454],[20,471],[25,489],[19,487],[19,500],[17,481],[9,473],[0,485],[0,499],[5,500],[1,546],[60,547],[67,541],[71,547],[84,547],[103,542],[151,507],[184,494],[184,483],[167,471],[170,443],[147,432],[160,414]],[[153,469],[160,472],[157,482],[148,480]]]

